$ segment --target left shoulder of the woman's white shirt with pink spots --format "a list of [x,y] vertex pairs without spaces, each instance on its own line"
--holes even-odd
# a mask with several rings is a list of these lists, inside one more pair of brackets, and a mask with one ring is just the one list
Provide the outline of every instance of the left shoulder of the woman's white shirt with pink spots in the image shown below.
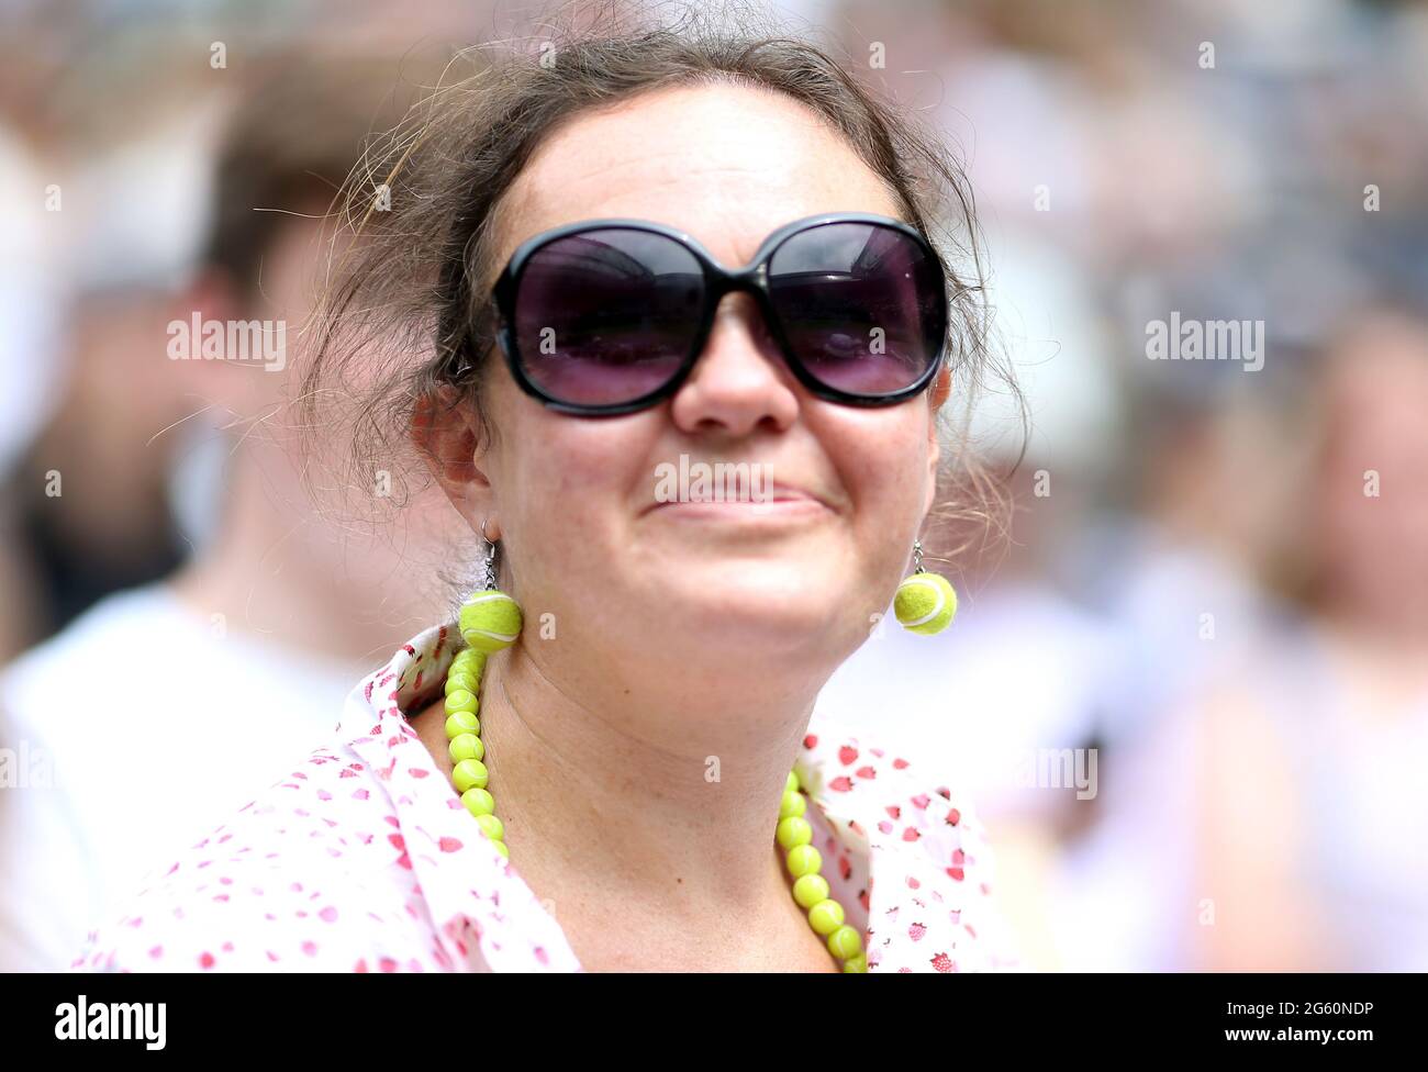
[[71,964],[86,971],[378,971],[420,931],[386,788],[320,748],[150,872]]

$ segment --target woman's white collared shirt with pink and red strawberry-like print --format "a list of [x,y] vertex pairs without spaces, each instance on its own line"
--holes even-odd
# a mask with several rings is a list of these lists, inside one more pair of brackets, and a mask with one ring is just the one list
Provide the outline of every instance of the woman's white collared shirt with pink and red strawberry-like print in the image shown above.
[[[446,625],[403,645],[348,695],[334,744],[150,872],[73,968],[584,971],[407,724],[460,647]],[[863,929],[870,972],[1017,966],[984,832],[934,774],[817,712],[797,769],[830,895]]]

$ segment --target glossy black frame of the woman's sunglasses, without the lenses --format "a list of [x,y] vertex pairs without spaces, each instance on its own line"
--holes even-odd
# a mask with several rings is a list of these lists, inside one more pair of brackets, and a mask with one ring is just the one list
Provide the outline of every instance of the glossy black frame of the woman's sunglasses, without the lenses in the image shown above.
[[[778,320],[778,314],[774,310],[773,295],[768,288],[768,264],[774,254],[783,247],[785,241],[804,231],[811,231],[818,227],[825,227],[828,224],[837,223],[864,223],[875,224],[880,227],[887,227],[912,238],[921,248],[927,258],[931,261],[932,268],[937,273],[938,291],[942,295],[942,325],[940,331],[940,340],[935,357],[928,361],[927,371],[922,373],[917,381],[900,391],[885,395],[863,395],[850,394],[841,391],[835,387],[828,387],[827,384],[817,380],[804,365],[804,363],[794,353],[788,343],[788,337],[784,334],[783,324]],[[543,247],[560,238],[568,238],[573,234],[581,234],[584,231],[597,231],[605,228],[620,228],[620,230],[634,230],[647,231],[651,234],[660,234],[667,238],[673,238],[687,248],[698,261],[700,268],[704,273],[704,308],[700,314],[700,323],[694,333],[694,340],[690,345],[690,353],[684,357],[680,368],[657,390],[650,391],[640,398],[634,398],[628,403],[567,403],[560,398],[553,398],[545,394],[527,374],[521,364],[520,351],[516,344],[516,295],[520,290],[521,274],[526,270],[530,258]],[[771,337],[777,341],[780,353],[783,354],[784,364],[790,368],[794,377],[804,387],[808,388],[811,394],[818,398],[841,403],[844,405],[858,405],[858,407],[884,407],[897,405],[898,403],[907,401],[924,390],[937,375],[942,365],[942,358],[947,353],[947,333],[951,321],[951,303],[947,294],[947,278],[942,271],[942,261],[937,256],[931,243],[910,224],[892,218],[890,216],[877,216],[871,213],[821,213],[818,216],[808,216],[801,220],[794,220],[773,234],[770,234],[760,244],[758,251],[754,258],[741,268],[727,268],[724,267],[703,244],[685,231],[680,231],[674,227],[668,227],[661,223],[653,223],[650,220],[631,220],[631,218],[600,218],[600,220],[581,220],[580,223],[564,224],[561,227],[543,231],[531,238],[521,243],[516,253],[511,254],[510,261],[507,261],[506,268],[501,271],[496,284],[491,287],[491,300],[496,305],[497,314],[497,343],[501,347],[501,353],[506,354],[506,364],[511,371],[511,377],[521,387],[526,394],[531,395],[543,405],[555,410],[558,413],[567,413],[580,417],[617,417],[620,414],[637,413],[640,410],[647,410],[665,398],[673,397],[684,381],[688,378],[694,365],[698,364],[700,355],[704,353],[704,347],[708,343],[710,333],[714,328],[714,315],[718,310],[720,303],[724,300],[725,294],[733,294],[737,291],[744,291],[753,294],[758,303],[760,313],[764,317],[764,323],[768,327]]]

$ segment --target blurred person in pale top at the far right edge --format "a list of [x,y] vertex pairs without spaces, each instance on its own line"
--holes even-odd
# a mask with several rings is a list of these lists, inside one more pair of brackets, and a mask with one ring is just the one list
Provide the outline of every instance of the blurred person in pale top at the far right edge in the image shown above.
[[1425,404],[1421,304],[1329,337],[1268,575],[1291,612],[1184,714],[1197,966],[1428,969]]

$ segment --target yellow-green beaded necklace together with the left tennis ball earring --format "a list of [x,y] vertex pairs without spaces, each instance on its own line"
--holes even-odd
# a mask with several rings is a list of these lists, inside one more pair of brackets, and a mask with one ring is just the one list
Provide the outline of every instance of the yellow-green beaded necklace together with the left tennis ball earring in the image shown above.
[[[490,567],[490,564],[488,564]],[[488,568],[487,577],[491,575]],[[491,581],[488,581],[491,584]],[[447,752],[451,757],[451,782],[461,795],[461,804],[476,816],[481,832],[491,839],[496,851],[510,859],[503,836],[506,828],[496,818],[496,798],[487,791],[490,772],[481,759],[481,719],[477,695],[486,657],[516,642],[521,631],[521,608],[494,584],[474,592],[461,607],[461,637],[470,645],[451,659],[446,679]],[[784,865],[794,879],[794,901],[808,914],[808,925],[825,939],[828,952],[843,965],[844,972],[865,972],[867,955],[863,935],[844,922],[843,905],[828,896],[828,881],[820,874],[823,855],[813,845],[813,826],[804,814],[808,798],[800,785],[798,772],[790,771],[784,798],[778,805],[778,826],[774,832],[784,851]]]

